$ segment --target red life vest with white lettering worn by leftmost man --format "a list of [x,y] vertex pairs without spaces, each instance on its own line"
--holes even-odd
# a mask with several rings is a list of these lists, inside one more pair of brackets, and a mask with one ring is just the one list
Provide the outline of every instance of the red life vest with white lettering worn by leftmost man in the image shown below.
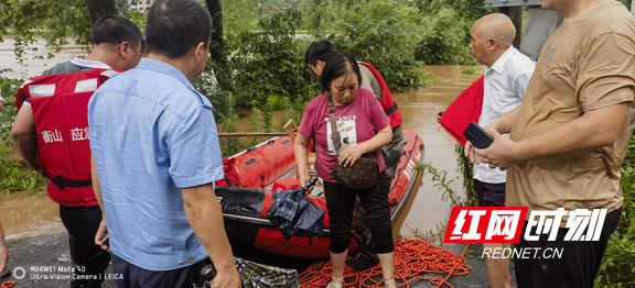
[[15,95],[21,109],[29,99],[37,131],[37,163],[51,178],[46,193],[69,207],[98,204],[90,180],[88,100],[117,70],[43,75],[28,80]]

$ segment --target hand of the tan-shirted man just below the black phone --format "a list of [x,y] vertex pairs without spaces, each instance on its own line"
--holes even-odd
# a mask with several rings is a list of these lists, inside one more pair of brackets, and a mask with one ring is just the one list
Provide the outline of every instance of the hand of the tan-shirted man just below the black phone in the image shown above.
[[[494,143],[485,149],[478,149],[472,146],[473,153],[471,154],[471,159],[474,158],[477,163],[488,163],[489,168],[494,169],[499,167],[501,170],[506,170],[516,165],[518,163],[516,153],[518,143],[501,135],[496,130],[489,129],[486,130],[486,132],[494,137]],[[467,145],[465,145],[465,147],[467,147]]]

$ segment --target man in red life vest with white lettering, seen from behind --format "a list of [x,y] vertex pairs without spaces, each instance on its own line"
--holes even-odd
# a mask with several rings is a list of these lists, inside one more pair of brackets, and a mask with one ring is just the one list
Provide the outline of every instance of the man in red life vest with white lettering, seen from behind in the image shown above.
[[101,274],[110,262],[110,254],[95,244],[103,212],[90,181],[88,99],[100,82],[117,74],[114,69],[137,66],[143,35],[130,20],[106,15],[95,22],[92,42],[86,59],[58,64],[20,88],[15,96],[20,111],[11,130],[15,149],[50,179],[46,193],[60,204],[77,274],[71,287],[101,287]]

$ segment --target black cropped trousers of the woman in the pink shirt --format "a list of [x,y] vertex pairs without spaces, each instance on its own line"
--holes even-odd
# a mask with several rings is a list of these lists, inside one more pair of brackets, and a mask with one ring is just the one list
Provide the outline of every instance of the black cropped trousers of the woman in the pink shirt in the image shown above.
[[[379,182],[385,181],[383,174],[379,177]],[[395,251],[388,192],[380,189],[379,185],[368,189],[354,189],[324,181],[324,195],[331,225],[331,252],[342,253],[351,245],[356,196],[359,197],[362,208],[366,211],[376,253]]]

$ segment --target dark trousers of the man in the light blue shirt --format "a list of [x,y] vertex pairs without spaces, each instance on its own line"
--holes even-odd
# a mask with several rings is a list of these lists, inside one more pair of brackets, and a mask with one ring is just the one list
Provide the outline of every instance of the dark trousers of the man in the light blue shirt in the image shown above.
[[202,287],[205,278],[201,270],[212,264],[209,257],[194,265],[174,270],[153,272],[140,268],[112,253],[112,270],[118,275],[118,288],[193,288]]

